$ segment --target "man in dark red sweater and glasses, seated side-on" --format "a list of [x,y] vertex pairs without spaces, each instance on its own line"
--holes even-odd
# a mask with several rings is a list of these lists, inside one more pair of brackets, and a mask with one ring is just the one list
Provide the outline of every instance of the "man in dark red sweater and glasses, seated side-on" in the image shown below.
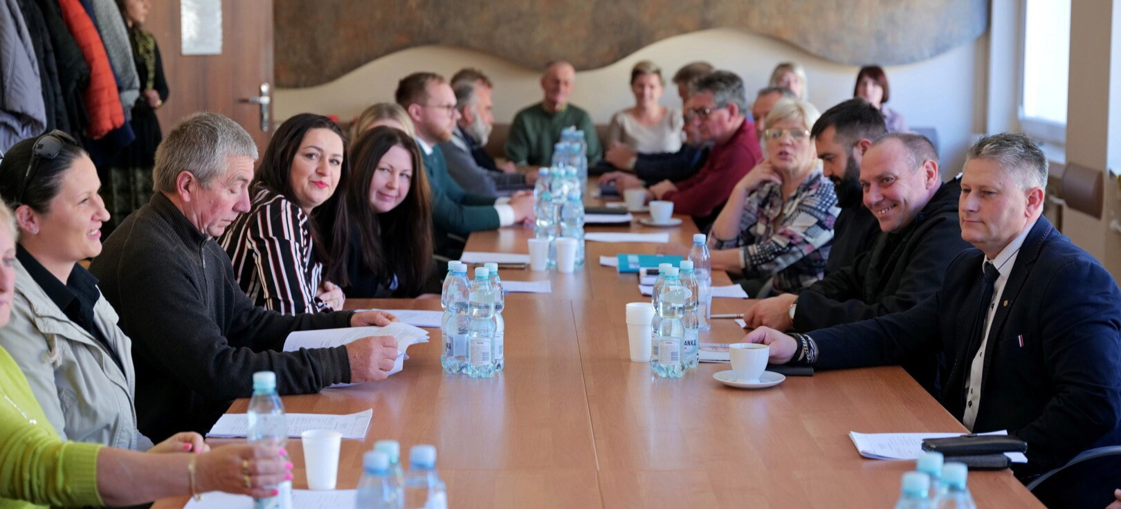
[[720,214],[729,194],[762,159],[759,138],[747,121],[748,99],[740,76],[714,71],[691,84],[685,118],[713,142],[708,160],[693,177],[674,184],[659,182],[647,189],[647,200],[674,202],[674,212],[689,214],[701,231],[706,231]]

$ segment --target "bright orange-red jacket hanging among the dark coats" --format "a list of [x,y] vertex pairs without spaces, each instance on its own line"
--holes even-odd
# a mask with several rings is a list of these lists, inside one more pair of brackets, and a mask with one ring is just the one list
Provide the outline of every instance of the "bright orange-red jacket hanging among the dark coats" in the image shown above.
[[117,80],[109,66],[109,55],[101,41],[98,28],[78,0],[58,0],[63,20],[74,40],[82,49],[82,56],[90,65],[90,83],[82,93],[85,110],[90,115],[86,136],[99,139],[109,131],[124,124],[124,109],[117,93]]

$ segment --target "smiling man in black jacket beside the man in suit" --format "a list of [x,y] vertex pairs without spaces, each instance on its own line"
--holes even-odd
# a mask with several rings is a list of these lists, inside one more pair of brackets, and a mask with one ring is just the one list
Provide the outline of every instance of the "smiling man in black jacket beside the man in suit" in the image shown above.
[[[942,183],[930,140],[888,133],[861,163],[864,206],[882,231],[872,249],[800,295],[758,302],[744,315],[749,325],[814,331],[909,309],[938,290],[946,267],[970,247],[957,221],[960,181]],[[933,388],[933,358],[916,355],[902,365]]]

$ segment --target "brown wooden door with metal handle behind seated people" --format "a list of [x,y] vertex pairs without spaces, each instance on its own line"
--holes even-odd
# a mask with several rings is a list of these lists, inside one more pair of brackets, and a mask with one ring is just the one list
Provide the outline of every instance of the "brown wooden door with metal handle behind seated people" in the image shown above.
[[[170,95],[157,110],[167,132],[185,115],[213,111],[235,120],[263,154],[271,128],[261,129],[261,107],[245,102],[272,87],[272,0],[222,0],[222,54],[183,55],[179,1],[152,1],[147,27],[159,44]],[[265,107],[271,121],[272,109]]]

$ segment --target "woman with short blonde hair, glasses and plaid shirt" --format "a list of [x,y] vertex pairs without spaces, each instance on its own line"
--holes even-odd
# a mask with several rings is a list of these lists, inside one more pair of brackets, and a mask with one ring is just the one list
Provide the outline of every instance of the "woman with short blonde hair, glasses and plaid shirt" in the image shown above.
[[767,115],[767,159],[732,189],[708,241],[714,269],[757,280],[753,297],[795,293],[822,278],[837,207],[822,175],[809,128],[821,114],[782,99]]

